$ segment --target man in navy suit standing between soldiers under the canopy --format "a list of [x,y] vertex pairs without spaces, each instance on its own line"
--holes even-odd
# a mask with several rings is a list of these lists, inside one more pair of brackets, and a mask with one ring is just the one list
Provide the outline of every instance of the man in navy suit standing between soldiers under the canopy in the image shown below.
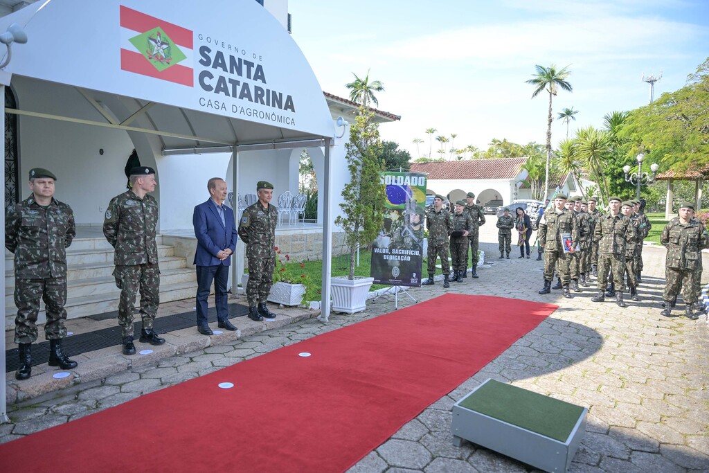
[[207,182],[210,198],[194,208],[192,224],[197,238],[194,265],[197,268],[197,330],[203,335],[214,335],[207,325],[207,298],[214,282],[214,301],[218,327],[237,328],[229,321],[226,284],[231,255],[236,250],[234,212],[225,206],[226,182],[213,177]]

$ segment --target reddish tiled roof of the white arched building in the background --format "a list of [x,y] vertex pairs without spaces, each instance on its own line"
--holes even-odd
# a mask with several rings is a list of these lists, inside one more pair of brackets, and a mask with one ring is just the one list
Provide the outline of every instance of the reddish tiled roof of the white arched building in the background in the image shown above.
[[428,179],[514,179],[525,162],[526,157],[413,162],[411,172],[425,172]]

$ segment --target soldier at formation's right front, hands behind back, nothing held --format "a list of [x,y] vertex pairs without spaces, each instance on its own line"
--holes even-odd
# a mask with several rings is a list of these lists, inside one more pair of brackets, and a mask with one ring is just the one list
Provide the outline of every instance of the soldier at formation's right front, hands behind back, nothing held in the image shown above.
[[591,301],[605,301],[605,289],[608,287],[608,272],[615,284],[615,304],[618,307],[627,307],[623,301],[625,282],[625,245],[635,241],[635,228],[630,219],[620,214],[620,197],[608,199],[610,211],[601,216],[593,233],[593,239],[598,241],[598,295]]

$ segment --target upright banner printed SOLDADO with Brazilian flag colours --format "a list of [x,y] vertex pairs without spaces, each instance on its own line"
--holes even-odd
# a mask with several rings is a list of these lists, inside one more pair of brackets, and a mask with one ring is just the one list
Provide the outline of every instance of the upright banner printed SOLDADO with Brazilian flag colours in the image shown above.
[[423,262],[423,216],[426,176],[415,172],[382,172],[387,215],[372,249],[370,276],[376,284],[420,286]]

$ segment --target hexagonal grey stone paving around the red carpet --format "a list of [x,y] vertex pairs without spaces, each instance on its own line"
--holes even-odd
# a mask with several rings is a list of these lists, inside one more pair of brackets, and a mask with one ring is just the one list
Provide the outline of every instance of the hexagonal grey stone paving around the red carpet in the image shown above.
[[[485,243],[481,249],[496,255],[497,244]],[[584,441],[571,472],[708,472],[708,325],[705,317],[690,321],[659,315],[664,250],[650,249],[644,258],[642,301],[630,302],[625,309],[613,302],[591,302],[593,287],[571,300],[563,299],[560,291],[540,296],[542,262],[534,257],[487,260],[479,270],[480,279],[467,278],[450,289],[440,283],[413,289],[411,294],[420,301],[450,291],[552,302],[560,308],[349,471],[535,471],[483,447],[452,445],[453,404],[493,378],[589,408]],[[413,302],[403,297],[399,304]],[[0,442],[392,310],[393,296],[383,297],[369,301],[359,316],[333,314],[329,323],[316,318],[295,321],[17,402],[9,406],[11,423],[0,425]],[[446,323],[445,313],[432,317]]]

